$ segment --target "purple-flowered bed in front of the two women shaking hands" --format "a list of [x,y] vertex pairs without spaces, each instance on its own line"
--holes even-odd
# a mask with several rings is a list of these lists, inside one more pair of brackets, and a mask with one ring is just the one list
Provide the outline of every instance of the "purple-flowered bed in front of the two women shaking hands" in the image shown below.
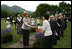
[[44,37],[44,34],[43,33],[37,33],[35,35],[35,43],[33,44],[33,48],[43,48],[43,37]]

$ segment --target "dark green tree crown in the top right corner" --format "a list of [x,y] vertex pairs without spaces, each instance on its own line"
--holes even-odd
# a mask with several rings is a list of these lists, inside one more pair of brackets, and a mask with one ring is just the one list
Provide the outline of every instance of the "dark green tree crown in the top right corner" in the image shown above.
[[[60,12],[63,14],[71,14],[71,5],[65,2],[59,3]],[[64,11],[63,11],[64,10]]]

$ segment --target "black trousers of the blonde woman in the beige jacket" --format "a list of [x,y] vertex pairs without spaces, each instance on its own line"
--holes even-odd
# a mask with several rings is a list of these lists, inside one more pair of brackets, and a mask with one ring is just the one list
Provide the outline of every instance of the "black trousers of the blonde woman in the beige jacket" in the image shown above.
[[29,46],[29,30],[22,29],[23,45]]

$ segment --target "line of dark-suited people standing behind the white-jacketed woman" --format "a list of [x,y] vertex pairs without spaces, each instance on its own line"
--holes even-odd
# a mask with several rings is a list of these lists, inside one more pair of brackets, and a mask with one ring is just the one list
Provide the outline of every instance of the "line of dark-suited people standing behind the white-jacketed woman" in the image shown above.
[[50,16],[50,26],[53,33],[53,45],[57,45],[57,40],[64,37],[64,30],[67,27],[67,18],[65,15],[56,14],[56,18]]

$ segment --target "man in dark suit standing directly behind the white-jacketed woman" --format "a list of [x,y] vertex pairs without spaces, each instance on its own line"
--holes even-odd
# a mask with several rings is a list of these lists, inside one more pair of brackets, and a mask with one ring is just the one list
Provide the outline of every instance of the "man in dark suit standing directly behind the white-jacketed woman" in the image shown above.
[[52,30],[52,33],[53,33],[53,44],[54,45],[57,45],[57,30],[58,30],[58,25],[56,23],[56,21],[53,19],[53,16],[50,16],[50,26],[51,26],[51,30]]

